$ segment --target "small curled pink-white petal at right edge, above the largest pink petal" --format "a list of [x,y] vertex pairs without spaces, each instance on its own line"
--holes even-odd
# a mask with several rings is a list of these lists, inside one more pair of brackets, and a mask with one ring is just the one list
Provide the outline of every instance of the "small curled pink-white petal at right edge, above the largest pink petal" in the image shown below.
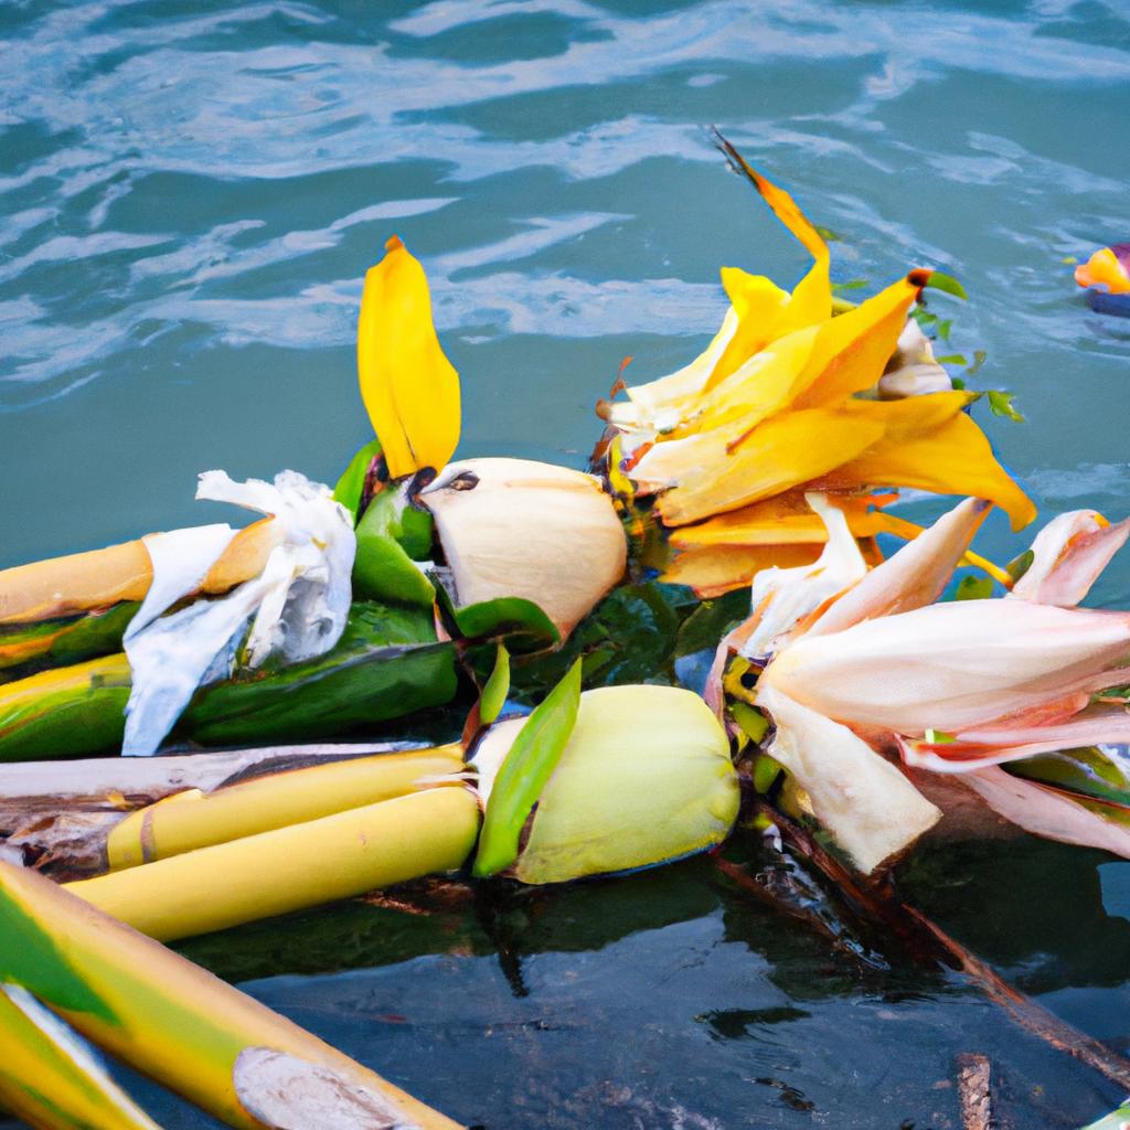
[[1032,542],[1035,559],[1011,596],[1072,608],[1130,537],[1130,519],[1110,525],[1093,510],[1052,519]]

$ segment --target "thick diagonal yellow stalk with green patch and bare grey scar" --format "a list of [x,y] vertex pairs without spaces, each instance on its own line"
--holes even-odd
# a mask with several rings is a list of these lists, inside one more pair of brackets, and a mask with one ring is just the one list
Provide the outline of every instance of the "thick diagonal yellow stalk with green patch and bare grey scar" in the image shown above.
[[[457,790],[421,796],[445,791]],[[241,1059],[263,1048],[333,1072],[342,1093],[383,1096],[402,1112],[402,1123],[458,1130],[450,1119],[191,962],[50,879],[2,862],[0,939],[3,980],[24,984],[110,1054],[240,1130],[264,1128],[237,1095],[238,1087],[247,1097],[247,1086],[237,1083]],[[305,1124],[313,1130],[320,1123]],[[336,1124],[344,1124],[340,1116]]]

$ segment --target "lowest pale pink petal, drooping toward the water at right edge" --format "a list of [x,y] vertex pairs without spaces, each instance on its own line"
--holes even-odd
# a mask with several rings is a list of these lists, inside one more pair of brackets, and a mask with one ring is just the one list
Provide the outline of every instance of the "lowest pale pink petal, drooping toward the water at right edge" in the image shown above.
[[1130,859],[1130,827],[1104,820],[1053,789],[989,767],[962,777],[1006,820],[1025,832],[1083,847],[1101,847]]

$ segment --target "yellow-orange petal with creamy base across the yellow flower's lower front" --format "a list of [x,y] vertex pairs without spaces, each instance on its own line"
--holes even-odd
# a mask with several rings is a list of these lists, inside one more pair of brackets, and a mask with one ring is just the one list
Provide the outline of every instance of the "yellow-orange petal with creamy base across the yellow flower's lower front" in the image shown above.
[[827,475],[883,434],[883,424],[812,408],[770,418],[733,452],[727,429],[655,444],[634,477],[680,484],[658,507],[666,524],[686,525]]

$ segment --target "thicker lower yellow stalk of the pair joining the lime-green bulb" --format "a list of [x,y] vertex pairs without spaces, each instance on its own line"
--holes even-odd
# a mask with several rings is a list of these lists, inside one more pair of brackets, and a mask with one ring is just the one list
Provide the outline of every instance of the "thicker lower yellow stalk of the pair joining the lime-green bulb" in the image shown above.
[[478,827],[478,802],[468,789],[427,789],[68,889],[169,941],[455,870],[475,846]]

